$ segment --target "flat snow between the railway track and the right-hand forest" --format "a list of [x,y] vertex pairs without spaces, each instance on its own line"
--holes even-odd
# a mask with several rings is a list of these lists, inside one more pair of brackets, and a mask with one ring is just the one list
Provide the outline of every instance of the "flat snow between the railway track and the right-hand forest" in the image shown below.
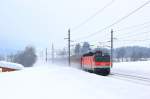
[[150,61],[115,63],[112,73],[130,74],[150,78]]

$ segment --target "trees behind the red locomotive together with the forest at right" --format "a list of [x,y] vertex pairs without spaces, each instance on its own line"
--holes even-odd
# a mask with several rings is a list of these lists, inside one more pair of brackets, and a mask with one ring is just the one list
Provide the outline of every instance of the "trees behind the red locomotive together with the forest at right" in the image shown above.
[[[96,48],[91,49],[90,44],[85,42],[82,46],[77,44],[74,49],[74,56],[76,58],[80,57],[84,53],[95,50],[103,50],[104,52],[109,52],[107,48]],[[114,61],[146,61],[150,59],[150,48],[141,47],[141,46],[128,46],[120,47],[113,50],[113,59]]]

